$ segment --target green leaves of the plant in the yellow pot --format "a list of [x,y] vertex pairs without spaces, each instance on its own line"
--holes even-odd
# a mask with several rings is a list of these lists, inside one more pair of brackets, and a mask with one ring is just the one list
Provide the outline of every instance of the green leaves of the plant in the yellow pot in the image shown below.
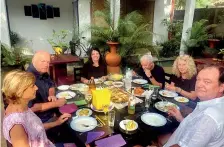
[[69,43],[67,41],[67,37],[69,33],[70,32],[68,30],[60,30],[58,32],[53,30],[52,37],[47,39],[47,41],[52,47],[68,48]]

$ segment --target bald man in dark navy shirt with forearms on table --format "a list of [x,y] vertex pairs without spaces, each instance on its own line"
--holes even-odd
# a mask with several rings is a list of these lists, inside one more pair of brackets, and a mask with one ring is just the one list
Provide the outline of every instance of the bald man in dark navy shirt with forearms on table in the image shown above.
[[[44,123],[47,130],[48,138],[53,142],[59,142],[57,134],[63,134],[62,125],[70,114],[63,114],[59,118],[56,117],[58,107],[66,103],[65,99],[57,99],[55,97],[54,82],[48,74],[50,63],[50,54],[45,51],[38,51],[27,71],[32,72],[36,77],[35,85],[38,87],[36,98],[29,102],[29,107]],[[57,138],[57,139],[56,139]]]

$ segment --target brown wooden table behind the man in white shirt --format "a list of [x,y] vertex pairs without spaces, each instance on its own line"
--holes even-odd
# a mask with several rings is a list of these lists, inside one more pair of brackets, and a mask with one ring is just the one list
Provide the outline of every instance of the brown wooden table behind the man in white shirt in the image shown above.
[[224,68],[224,61],[217,61],[213,58],[199,58],[194,59],[198,71],[200,71],[205,65],[218,65]]

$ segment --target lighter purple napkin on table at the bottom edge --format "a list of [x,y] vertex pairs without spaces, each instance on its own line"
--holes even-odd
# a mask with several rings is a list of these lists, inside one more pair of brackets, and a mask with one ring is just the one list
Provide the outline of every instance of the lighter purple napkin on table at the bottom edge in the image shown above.
[[121,134],[95,141],[97,147],[121,147],[126,144]]

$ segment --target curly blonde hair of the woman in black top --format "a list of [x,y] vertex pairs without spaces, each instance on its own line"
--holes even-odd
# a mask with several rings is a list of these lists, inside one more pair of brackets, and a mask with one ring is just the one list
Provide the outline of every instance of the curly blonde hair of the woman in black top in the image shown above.
[[178,69],[178,61],[185,61],[187,63],[187,79],[191,79],[194,75],[197,74],[197,69],[194,63],[194,60],[189,55],[180,55],[176,58],[176,60],[173,63],[173,74],[177,77],[181,76],[181,73]]

